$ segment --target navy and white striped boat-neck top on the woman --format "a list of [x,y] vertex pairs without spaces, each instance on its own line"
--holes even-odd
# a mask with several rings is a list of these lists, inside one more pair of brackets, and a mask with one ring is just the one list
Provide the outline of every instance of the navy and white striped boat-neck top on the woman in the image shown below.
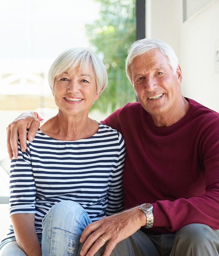
[[[18,143],[20,144],[20,142]],[[123,209],[123,136],[99,123],[89,138],[60,141],[40,131],[11,161],[10,215],[35,213],[37,235],[48,210],[63,200],[84,207],[92,221]],[[13,227],[3,240],[14,237]]]

